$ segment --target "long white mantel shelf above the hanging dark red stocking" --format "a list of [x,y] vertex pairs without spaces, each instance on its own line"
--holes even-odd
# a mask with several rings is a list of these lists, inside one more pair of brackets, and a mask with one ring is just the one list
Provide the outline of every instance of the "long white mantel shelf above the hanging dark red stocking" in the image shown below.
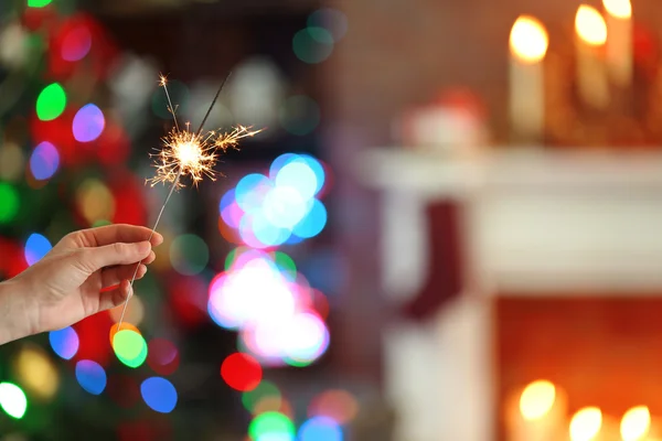
[[522,185],[605,191],[662,189],[662,152],[492,149],[473,158],[451,159],[383,148],[367,150],[357,164],[360,176],[371,186],[430,195]]

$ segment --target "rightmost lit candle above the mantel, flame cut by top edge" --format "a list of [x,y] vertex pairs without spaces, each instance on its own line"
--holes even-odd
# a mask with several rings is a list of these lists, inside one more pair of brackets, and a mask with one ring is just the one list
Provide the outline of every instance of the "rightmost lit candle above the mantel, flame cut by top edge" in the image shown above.
[[630,0],[602,0],[607,11],[607,63],[613,82],[628,87],[632,82],[632,4]]

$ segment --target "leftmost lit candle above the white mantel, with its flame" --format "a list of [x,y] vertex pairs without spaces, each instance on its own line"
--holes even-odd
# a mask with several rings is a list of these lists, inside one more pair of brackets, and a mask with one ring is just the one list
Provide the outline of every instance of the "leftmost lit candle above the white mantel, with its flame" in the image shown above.
[[510,118],[514,138],[538,142],[545,130],[543,60],[549,39],[536,19],[521,15],[510,34]]

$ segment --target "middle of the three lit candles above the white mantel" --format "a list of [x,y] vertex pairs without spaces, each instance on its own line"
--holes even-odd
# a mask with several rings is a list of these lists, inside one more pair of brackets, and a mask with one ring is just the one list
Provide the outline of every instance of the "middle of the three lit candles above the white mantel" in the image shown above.
[[580,99],[596,109],[609,105],[609,82],[598,50],[607,41],[607,24],[600,13],[583,4],[575,18],[577,90]]

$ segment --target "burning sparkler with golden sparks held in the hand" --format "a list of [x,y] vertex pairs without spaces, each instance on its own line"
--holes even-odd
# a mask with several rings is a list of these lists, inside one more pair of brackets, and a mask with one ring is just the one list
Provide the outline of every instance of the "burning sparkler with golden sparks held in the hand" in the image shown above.
[[[182,176],[189,176],[194,186],[197,186],[200,181],[202,181],[205,176],[212,181],[215,181],[214,165],[218,160],[218,152],[225,152],[229,148],[236,148],[242,138],[253,137],[261,131],[250,130],[250,127],[237,126],[229,132],[216,132],[212,130],[203,133],[204,123],[210,117],[210,114],[212,112],[212,109],[214,108],[214,105],[221,95],[221,90],[223,90],[223,86],[227,82],[228,77],[226,77],[221,84],[221,87],[218,87],[210,108],[200,123],[200,128],[195,132],[190,130],[190,125],[188,122],[183,130],[180,129],[180,125],[177,120],[177,108],[172,106],[170,93],[168,92],[168,79],[163,75],[160,77],[159,85],[163,87],[163,90],[166,92],[166,97],[168,98],[168,111],[172,114],[174,127],[161,140],[163,146],[159,151],[159,154],[154,155],[157,158],[157,162],[154,164],[157,173],[154,178],[147,180],[147,182],[149,182],[151,186],[154,186],[159,183],[171,183],[171,186],[170,191],[168,192],[168,196],[166,196],[163,205],[161,205],[161,211],[157,216],[157,222],[154,223],[148,240],[151,240],[154,232],[157,230],[159,222],[161,220],[161,216],[163,215],[163,211],[166,209],[166,205],[168,205],[168,201],[170,201],[172,193],[175,190],[185,186],[182,183]],[[142,261],[138,262],[136,270],[134,271],[134,277],[131,278],[131,292],[134,282],[136,281],[136,276],[138,275],[138,269],[140,268],[140,263],[142,263]],[[120,326],[127,312],[127,305],[132,297],[131,292],[125,301],[119,322],[117,323],[118,332],[121,329]]]

